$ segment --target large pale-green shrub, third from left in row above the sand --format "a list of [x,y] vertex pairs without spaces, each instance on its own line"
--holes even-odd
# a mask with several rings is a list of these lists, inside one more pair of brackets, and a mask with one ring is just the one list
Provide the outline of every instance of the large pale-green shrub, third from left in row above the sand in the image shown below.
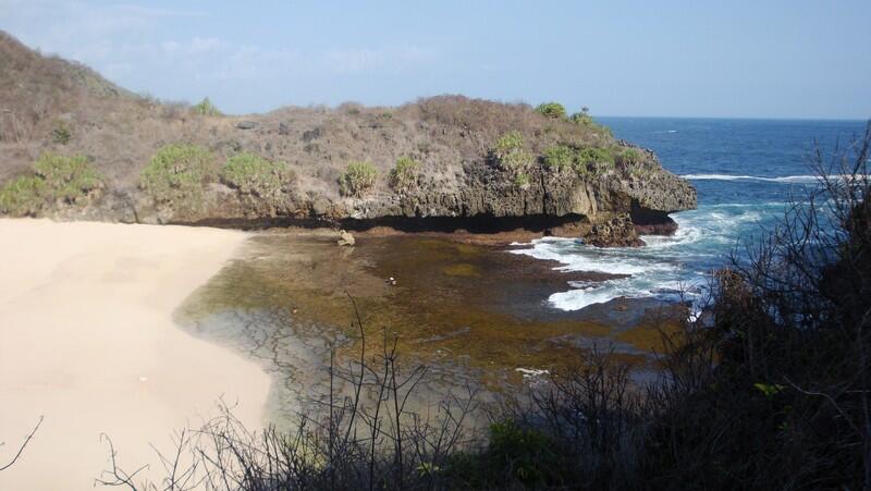
[[156,202],[198,200],[203,185],[218,174],[214,156],[196,145],[167,145],[151,157],[140,183]]

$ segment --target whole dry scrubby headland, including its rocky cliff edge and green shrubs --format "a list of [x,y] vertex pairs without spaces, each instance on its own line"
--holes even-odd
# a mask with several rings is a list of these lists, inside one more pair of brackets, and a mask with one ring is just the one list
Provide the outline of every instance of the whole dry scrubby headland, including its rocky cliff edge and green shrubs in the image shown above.
[[[695,189],[652,152],[559,105],[440,96],[390,108],[210,112],[133,95],[0,34],[0,212],[238,226],[563,226],[609,245],[637,243],[633,223],[667,231],[667,213],[696,205]],[[51,164],[32,165],[47,151],[84,156],[60,164],[97,177],[79,186],[70,171],[58,192],[40,170]]]

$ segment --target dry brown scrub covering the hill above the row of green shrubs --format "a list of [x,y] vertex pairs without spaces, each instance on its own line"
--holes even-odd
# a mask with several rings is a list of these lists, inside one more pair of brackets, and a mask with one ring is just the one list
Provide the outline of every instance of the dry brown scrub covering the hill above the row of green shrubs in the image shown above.
[[[242,130],[242,121],[255,125]],[[72,135],[66,145],[52,137],[59,125]],[[484,159],[508,131],[519,132],[533,155],[557,143],[614,144],[598,126],[553,120],[526,105],[463,96],[395,108],[346,102],[245,118],[200,115],[184,103],[130,94],[85,66],[44,57],[0,33],[0,151],[5,157],[0,182],[53,150],[88,156],[110,188],[132,191],[159,148],[182,143],[206,147],[220,159],[247,151],[287,162],[308,195],[339,198],[336,182],[349,161],[369,161],[388,176],[401,157],[421,163],[421,183],[451,191],[459,185],[463,165]],[[388,180],[378,180],[372,192],[389,192]]]

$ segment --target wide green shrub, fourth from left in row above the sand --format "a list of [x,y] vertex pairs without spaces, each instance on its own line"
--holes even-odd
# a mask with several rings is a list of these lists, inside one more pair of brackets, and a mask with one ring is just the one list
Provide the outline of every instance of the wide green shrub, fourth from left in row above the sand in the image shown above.
[[226,160],[221,179],[231,187],[261,197],[275,196],[284,183],[294,179],[285,162],[273,162],[250,152]]

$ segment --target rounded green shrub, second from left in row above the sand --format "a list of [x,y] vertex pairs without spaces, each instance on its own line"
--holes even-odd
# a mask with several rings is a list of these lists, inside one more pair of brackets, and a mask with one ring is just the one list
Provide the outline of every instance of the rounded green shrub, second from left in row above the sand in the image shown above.
[[74,202],[102,186],[102,176],[84,156],[46,152],[34,162],[34,171],[45,181],[45,198],[49,201]]

